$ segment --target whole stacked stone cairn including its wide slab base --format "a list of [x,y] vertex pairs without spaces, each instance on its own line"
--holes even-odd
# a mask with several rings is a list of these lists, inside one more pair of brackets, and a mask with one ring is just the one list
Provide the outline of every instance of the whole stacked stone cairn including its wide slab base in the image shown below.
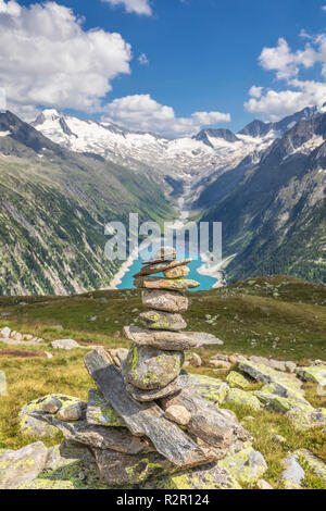
[[[51,410],[33,413],[59,428],[65,441],[86,446],[110,487],[193,468],[217,470],[217,460],[250,439],[235,417],[197,394],[181,369],[184,350],[221,344],[208,334],[181,332],[187,324],[180,313],[188,308],[183,291],[199,286],[179,278],[188,275],[189,262],[163,248],[135,275],[146,327],[125,327],[133,345],[120,364],[104,348],[86,354],[97,388],[78,421],[60,420]],[[165,278],[151,276],[161,272]]]

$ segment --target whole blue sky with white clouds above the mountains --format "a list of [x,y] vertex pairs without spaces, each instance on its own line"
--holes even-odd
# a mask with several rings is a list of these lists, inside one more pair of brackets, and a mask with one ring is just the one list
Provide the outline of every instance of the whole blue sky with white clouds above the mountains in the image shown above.
[[325,4],[0,0],[0,86],[26,119],[53,107],[172,136],[238,130],[326,101]]

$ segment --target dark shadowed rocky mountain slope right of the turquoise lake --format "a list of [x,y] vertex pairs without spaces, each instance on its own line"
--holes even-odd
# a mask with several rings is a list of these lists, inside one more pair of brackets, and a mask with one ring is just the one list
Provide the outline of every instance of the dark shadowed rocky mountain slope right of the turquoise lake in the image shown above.
[[211,209],[203,220],[223,222],[225,254],[236,256],[228,279],[290,274],[326,282],[325,139],[326,114],[301,120],[258,165],[242,164],[205,189],[199,202]]

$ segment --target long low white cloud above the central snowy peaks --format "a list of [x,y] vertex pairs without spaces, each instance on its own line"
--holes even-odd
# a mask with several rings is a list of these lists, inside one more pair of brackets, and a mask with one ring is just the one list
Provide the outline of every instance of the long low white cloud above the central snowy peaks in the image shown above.
[[229,122],[221,112],[195,112],[190,117],[177,117],[172,107],[160,104],[150,95],[115,99],[105,105],[104,121],[113,121],[131,129],[153,132],[164,136],[193,135],[203,125]]

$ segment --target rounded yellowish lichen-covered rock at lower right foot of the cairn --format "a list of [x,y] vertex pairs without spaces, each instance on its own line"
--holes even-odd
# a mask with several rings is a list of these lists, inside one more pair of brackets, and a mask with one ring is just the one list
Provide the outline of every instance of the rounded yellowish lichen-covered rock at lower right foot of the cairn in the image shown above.
[[255,483],[267,470],[263,454],[251,446],[217,461],[217,465],[226,469],[240,485]]

